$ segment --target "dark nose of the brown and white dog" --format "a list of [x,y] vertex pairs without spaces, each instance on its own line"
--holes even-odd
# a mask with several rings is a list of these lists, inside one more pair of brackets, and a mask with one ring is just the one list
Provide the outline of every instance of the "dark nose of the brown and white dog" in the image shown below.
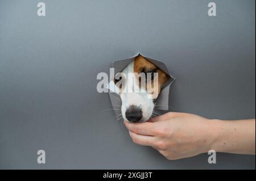
[[138,122],[142,119],[142,110],[138,106],[131,105],[126,110],[125,117],[131,122]]

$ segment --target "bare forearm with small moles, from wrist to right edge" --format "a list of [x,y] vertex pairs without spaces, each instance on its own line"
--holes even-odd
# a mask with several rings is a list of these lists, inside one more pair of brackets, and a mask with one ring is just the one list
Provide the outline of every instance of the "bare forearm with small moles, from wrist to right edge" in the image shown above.
[[210,120],[208,126],[208,134],[212,134],[210,149],[216,152],[255,154],[255,119]]

